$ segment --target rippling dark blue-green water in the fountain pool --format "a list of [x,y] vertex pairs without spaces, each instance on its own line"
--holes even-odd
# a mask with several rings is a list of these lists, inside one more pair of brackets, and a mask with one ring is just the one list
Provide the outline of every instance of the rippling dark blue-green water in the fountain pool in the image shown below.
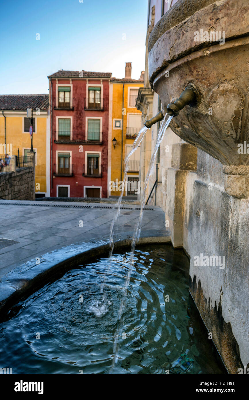
[[[183,251],[169,245],[138,249],[113,373],[223,373],[191,311]],[[12,367],[13,374],[108,373],[128,261],[129,253],[114,254],[104,302],[100,286],[108,258],[76,266],[22,302],[18,314],[0,324],[0,366]]]

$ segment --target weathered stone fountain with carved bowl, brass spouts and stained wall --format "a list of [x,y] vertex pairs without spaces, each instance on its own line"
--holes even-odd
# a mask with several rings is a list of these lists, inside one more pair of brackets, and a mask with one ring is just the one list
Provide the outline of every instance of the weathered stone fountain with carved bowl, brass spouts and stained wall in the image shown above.
[[[163,109],[145,125],[168,112],[171,130],[202,150],[197,174],[183,167],[185,183],[167,183],[166,219],[172,230],[181,220],[177,246],[191,258],[190,292],[228,372],[237,374],[249,366],[248,0],[178,0],[153,28],[148,46],[149,82]],[[168,177],[177,177],[169,170]],[[209,190],[212,179],[217,185]],[[183,206],[176,213],[177,188]],[[198,254],[222,256],[224,266],[198,268]]]

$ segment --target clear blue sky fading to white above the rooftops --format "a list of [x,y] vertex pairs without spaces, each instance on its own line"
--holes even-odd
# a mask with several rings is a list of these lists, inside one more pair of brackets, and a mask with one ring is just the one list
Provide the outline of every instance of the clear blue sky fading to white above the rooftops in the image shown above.
[[48,93],[47,76],[61,69],[123,78],[125,62],[138,79],[146,25],[147,0],[2,2],[0,94]]

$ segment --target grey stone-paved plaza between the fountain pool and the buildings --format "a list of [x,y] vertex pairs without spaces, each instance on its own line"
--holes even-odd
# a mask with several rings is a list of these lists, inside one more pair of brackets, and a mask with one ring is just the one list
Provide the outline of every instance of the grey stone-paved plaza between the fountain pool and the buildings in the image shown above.
[[[108,237],[115,212],[113,203],[0,200],[0,276],[52,250]],[[138,205],[122,204],[115,232],[133,231],[139,212]],[[148,206],[141,231],[153,229],[166,232],[165,214]]]

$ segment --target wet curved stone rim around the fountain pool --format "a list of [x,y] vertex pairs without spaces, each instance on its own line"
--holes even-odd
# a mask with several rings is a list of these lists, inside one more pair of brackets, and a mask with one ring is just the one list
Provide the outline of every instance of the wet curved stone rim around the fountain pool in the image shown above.
[[[131,245],[133,232],[125,232],[114,237],[114,251],[122,250]],[[137,245],[171,243],[169,232],[148,230],[141,232]],[[1,320],[6,319],[8,311],[20,300],[42,288],[45,284],[55,281],[75,265],[89,262],[95,258],[108,256],[110,250],[109,235],[103,240],[72,244],[64,248],[46,253],[36,260],[30,260],[2,276],[0,281],[0,314]],[[8,317],[10,318],[10,316]]]

